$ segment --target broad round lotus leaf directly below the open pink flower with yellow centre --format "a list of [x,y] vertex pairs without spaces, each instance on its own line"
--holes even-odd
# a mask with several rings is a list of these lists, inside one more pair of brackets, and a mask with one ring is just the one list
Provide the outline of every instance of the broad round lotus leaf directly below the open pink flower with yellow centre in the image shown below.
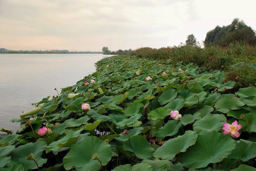
[[212,131],[198,135],[196,143],[181,154],[181,161],[189,168],[204,168],[209,163],[217,163],[231,154],[236,147],[235,140],[223,133]]

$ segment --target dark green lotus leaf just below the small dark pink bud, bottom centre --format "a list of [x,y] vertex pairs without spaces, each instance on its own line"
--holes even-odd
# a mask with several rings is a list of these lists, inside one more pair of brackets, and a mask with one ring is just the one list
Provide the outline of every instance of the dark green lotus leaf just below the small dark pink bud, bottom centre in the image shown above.
[[124,150],[135,153],[139,159],[151,160],[154,153],[154,148],[150,143],[140,135],[129,138],[124,142]]

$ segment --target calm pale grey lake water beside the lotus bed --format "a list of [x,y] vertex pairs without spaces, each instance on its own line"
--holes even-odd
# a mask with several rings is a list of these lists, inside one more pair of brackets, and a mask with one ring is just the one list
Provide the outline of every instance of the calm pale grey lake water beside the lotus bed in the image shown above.
[[0,54],[0,129],[20,129],[10,122],[22,111],[33,108],[31,103],[57,95],[55,87],[76,84],[95,72],[94,64],[103,54]]

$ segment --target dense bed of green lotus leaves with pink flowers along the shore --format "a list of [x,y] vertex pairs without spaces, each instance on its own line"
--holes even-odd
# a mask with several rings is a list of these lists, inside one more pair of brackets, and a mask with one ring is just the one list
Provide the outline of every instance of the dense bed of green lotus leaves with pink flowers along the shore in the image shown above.
[[0,171],[36,163],[77,171],[254,169],[254,85],[239,88],[224,82],[224,71],[171,60],[115,56],[96,65],[11,120],[22,129],[3,129],[10,134],[0,140]]

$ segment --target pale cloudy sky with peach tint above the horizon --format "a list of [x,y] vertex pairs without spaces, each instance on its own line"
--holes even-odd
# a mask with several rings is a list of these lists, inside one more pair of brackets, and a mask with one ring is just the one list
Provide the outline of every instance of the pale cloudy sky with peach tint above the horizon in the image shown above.
[[236,17],[256,29],[256,0],[0,0],[0,48],[111,51],[197,41]]

